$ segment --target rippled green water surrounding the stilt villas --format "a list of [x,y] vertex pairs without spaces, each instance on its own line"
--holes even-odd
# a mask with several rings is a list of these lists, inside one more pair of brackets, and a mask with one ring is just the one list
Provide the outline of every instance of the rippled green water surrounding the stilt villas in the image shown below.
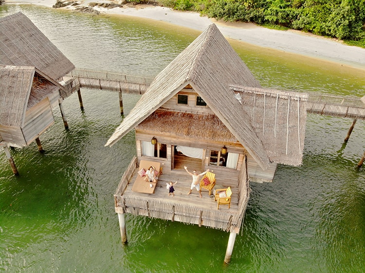
[[[22,11],[76,67],[154,76],[199,34],[130,17],[90,16],[34,6]],[[237,42],[263,86],[364,95],[364,71]],[[279,166],[274,182],[251,184],[231,264],[228,234],[177,222],[126,216],[121,244],[113,193],[135,154],[133,132],[112,148],[116,93],[82,90],[58,109],[40,140],[11,151],[19,177],[0,153],[0,271],[4,272],[364,272],[364,122],[308,115],[303,165]],[[138,96],[124,95],[128,114]],[[176,188],[178,191],[179,188]]]

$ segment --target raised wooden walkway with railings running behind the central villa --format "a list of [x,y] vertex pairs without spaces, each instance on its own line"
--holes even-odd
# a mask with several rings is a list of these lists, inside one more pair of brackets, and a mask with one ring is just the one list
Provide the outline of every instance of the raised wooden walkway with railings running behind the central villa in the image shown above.
[[[75,68],[68,74],[66,91],[61,91],[63,99],[80,88],[106,90],[112,92],[140,94],[153,78],[138,77],[120,73]],[[354,96],[334,96],[319,92],[309,92],[307,113],[350,119],[365,119],[365,103]]]

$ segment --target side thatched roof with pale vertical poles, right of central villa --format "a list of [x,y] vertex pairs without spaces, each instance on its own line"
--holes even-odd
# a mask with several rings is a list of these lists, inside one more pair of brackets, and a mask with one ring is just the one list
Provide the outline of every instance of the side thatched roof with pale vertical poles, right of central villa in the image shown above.
[[254,125],[271,162],[292,166],[302,163],[308,94],[231,86],[241,108]]

